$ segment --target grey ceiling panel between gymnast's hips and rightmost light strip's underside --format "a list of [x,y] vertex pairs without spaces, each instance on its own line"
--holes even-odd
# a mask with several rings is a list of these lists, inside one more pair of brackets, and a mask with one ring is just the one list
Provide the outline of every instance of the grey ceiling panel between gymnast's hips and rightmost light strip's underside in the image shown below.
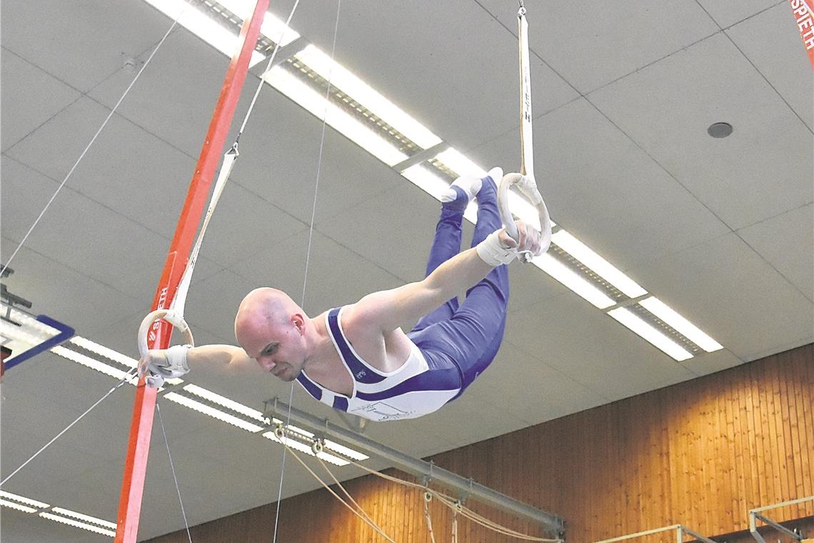
[[505,339],[609,401],[693,376],[577,296],[512,313]]

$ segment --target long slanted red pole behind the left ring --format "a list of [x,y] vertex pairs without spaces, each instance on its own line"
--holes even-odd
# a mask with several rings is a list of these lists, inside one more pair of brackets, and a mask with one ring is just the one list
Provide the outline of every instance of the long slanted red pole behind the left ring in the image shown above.
[[[152,309],[163,309],[173,300],[178,282],[186,268],[186,261],[192,249],[195,233],[201,216],[204,214],[209,188],[220,163],[223,146],[234,117],[243,81],[246,80],[249,59],[260,34],[260,24],[269,7],[269,0],[257,0],[251,19],[243,21],[240,30],[240,50],[235,52],[217,99],[215,112],[204,139],[204,146],[195,165],[195,173],[186,193],[186,201],[178,218],[178,224],[170,244],[164,271],[155,291]],[[172,335],[172,326],[166,322],[156,322],[147,339],[151,348],[167,348]],[[147,453],[150,449],[153,410],[157,389],[144,385],[140,379],[136,388],[133,419],[130,423],[130,438],[125,459],[125,472],[121,484],[119,512],[116,515],[115,543],[135,543],[138,535],[138,519],[141,515],[144,477],[147,471]]]

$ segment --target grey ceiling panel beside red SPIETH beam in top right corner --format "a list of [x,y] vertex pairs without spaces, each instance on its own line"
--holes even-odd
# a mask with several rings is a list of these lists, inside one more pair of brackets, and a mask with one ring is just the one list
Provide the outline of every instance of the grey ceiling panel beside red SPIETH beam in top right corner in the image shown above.
[[789,2],[777,2],[775,7],[728,28],[726,34],[812,129],[814,80],[804,77],[809,71],[808,55]]

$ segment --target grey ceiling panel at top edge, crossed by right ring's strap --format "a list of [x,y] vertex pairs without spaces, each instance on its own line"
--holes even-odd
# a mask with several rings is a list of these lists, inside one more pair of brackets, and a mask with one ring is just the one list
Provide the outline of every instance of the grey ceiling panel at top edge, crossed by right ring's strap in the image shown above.
[[[484,6],[517,32],[517,4],[488,0]],[[528,43],[581,94],[689,46],[719,28],[693,0],[532,3],[526,7]]]

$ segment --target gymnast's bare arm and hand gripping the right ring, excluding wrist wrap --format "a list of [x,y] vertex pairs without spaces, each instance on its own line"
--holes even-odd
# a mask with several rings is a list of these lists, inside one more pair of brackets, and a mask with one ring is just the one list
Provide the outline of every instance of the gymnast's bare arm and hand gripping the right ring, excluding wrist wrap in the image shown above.
[[[505,234],[505,230],[501,230],[498,236],[501,245],[519,251],[530,250],[535,254],[540,252],[540,234],[522,221],[517,224],[519,243]],[[488,264],[479,256],[474,247],[467,249],[445,261],[422,281],[365,296],[348,308],[351,309],[348,317],[365,327],[370,326],[380,333],[388,334],[407,322],[415,322],[453,296],[472,287],[485,278],[493,267],[494,265]]]

